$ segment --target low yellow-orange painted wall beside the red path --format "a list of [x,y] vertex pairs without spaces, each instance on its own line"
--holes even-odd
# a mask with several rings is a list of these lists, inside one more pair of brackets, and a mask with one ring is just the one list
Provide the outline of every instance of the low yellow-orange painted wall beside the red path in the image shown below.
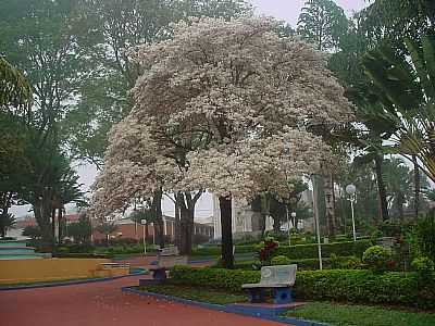
[[105,259],[0,260],[0,284],[127,275],[128,268],[104,269]]

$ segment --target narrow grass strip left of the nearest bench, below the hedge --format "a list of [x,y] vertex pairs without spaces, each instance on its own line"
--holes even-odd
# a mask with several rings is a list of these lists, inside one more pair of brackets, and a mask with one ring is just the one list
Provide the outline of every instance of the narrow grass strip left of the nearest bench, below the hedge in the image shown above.
[[231,304],[248,301],[248,296],[246,294],[234,294],[214,289],[194,288],[172,284],[146,286],[140,287],[139,289],[147,292],[160,293],[214,304]]

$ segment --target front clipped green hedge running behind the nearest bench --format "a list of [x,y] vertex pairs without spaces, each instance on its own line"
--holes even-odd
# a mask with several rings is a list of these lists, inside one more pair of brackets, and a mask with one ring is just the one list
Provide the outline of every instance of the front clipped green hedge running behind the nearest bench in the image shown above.
[[[171,271],[171,277],[176,284],[240,292],[243,284],[260,280],[260,272],[176,266]],[[296,298],[304,300],[435,309],[435,276],[423,283],[415,273],[306,271],[298,272],[294,290]]]

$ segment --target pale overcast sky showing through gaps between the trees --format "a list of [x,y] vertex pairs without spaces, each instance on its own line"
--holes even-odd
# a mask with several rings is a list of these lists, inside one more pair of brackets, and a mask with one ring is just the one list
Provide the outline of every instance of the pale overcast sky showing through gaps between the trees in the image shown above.
[[[306,0],[250,0],[256,8],[256,13],[259,15],[274,16],[276,18],[286,21],[293,27],[296,27],[300,10]],[[353,12],[361,10],[366,5],[368,0],[336,0],[346,12],[351,15]],[[94,183],[97,174],[94,166],[77,165],[77,172],[80,176],[79,183],[84,184],[85,190],[89,190],[89,186]],[[173,203],[170,200],[163,202],[162,209],[164,214],[174,214]],[[14,208],[12,212],[17,216],[29,214],[28,206]],[[69,210],[69,209],[67,209]],[[69,210],[71,212],[71,209]],[[204,195],[200,199],[197,209],[197,216],[208,217],[212,215],[211,197]]]

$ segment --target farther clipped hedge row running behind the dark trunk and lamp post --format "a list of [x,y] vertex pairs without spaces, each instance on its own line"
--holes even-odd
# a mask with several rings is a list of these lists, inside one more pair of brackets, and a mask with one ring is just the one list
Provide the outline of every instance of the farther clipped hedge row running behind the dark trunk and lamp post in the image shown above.
[[[338,256],[356,255],[361,258],[365,249],[371,246],[371,240],[323,243],[322,255],[331,256],[332,254],[336,254]],[[248,253],[254,251],[256,246],[236,246],[236,253]],[[196,249],[194,250],[192,255],[219,256],[221,255],[221,247],[208,246],[201,249]],[[274,252],[274,255],[286,255],[289,259],[316,259],[319,256],[318,244],[296,244],[291,247],[279,246],[278,249]]]

